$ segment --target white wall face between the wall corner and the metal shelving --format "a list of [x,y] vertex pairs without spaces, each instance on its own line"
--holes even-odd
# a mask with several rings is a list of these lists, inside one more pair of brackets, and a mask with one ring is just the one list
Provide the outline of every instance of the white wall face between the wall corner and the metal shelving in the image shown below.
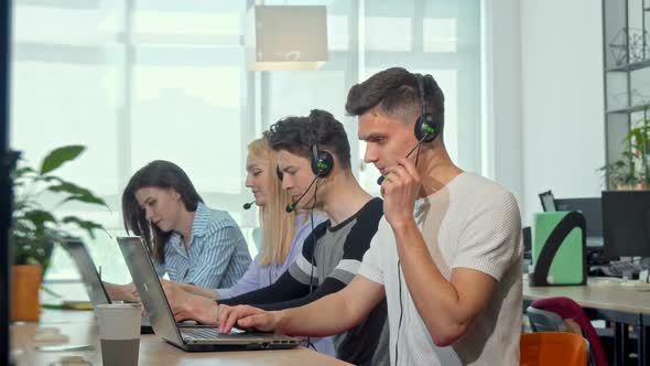
[[521,2],[524,220],[538,193],[599,196],[605,162],[600,1]]

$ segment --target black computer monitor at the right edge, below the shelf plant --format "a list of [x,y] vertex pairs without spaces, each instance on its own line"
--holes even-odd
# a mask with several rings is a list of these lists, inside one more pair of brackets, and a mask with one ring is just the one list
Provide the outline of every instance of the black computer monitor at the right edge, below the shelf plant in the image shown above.
[[603,192],[605,254],[650,257],[650,191]]

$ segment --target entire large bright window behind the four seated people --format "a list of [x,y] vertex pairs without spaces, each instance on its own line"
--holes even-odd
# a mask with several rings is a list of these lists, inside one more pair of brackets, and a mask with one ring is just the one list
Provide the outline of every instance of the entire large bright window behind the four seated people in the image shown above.
[[[111,209],[65,209],[102,223],[111,236],[123,234],[128,179],[165,159],[251,239],[257,216],[241,208],[250,201],[247,143],[281,117],[327,109],[346,126],[362,185],[378,193],[377,172],[360,163],[365,147],[344,105],[351,85],[403,66],[437,79],[446,95],[447,148],[464,169],[480,171],[478,0],[264,3],[327,7],[329,61],[322,69],[247,72],[247,1],[15,1],[12,147],[35,163],[55,147],[87,146],[61,174]],[[129,280],[113,238],[98,234],[89,244],[107,280]],[[76,276],[57,250],[47,277]]]

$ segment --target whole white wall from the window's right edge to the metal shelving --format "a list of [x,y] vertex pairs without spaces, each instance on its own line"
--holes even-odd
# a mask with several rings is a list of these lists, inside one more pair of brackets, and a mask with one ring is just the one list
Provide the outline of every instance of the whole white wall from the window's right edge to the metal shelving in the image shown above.
[[[556,197],[600,194],[595,172],[605,161],[600,1],[489,2],[492,36],[499,26],[520,31],[519,44],[512,34],[492,39],[492,63],[511,69],[491,67],[492,177],[519,194],[523,223],[530,225],[542,191],[553,190]],[[517,51],[520,68],[511,55]]]

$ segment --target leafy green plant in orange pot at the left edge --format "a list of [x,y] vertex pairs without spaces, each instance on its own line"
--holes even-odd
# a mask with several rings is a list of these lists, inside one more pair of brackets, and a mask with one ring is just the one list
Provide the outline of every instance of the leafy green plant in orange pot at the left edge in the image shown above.
[[[73,230],[83,229],[90,237],[104,227],[77,216],[57,217],[55,212],[69,202],[107,206],[104,200],[89,190],[68,182],[54,172],[64,163],[75,160],[86,148],[66,146],[51,151],[39,169],[19,160],[12,172],[15,200],[10,235],[13,255],[11,269],[11,317],[12,320],[35,321],[39,319],[39,288],[50,266],[54,245],[71,236]],[[45,206],[44,195],[55,198],[55,204]],[[108,206],[107,206],[108,207]]]

